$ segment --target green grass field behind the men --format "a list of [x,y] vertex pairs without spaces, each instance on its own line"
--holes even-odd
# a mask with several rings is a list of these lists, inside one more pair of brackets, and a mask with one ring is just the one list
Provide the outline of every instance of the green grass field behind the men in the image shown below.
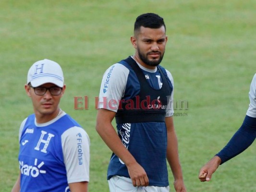
[[[186,100],[187,116],[174,117],[188,192],[255,192],[256,144],[220,166],[210,182],[197,174],[240,127],[256,73],[254,0],[1,0],[0,2],[0,192],[18,176],[18,130],[33,113],[24,84],[37,60],[61,64],[67,85],[61,108],[91,140],[90,192],[108,192],[111,152],[95,131],[95,97],[103,72],[134,54],[135,18],[162,16],[169,41],[161,63],[171,71],[175,100]],[[88,96],[87,110],[74,109]],[[173,177],[169,171],[173,192]]]

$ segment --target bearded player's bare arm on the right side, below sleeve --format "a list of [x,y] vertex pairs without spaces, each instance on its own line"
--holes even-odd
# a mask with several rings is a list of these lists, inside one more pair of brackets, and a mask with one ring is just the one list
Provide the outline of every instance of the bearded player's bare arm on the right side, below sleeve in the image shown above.
[[174,177],[174,188],[176,192],[186,192],[179,160],[178,141],[174,130],[173,118],[166,117],[165,123],[167,128],[167,160]]

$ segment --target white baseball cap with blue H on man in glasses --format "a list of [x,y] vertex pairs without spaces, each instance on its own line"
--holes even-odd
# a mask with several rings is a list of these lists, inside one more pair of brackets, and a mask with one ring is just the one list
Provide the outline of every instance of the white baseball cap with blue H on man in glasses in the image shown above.
[[61,66],[52,60],[38,60],[28,70],[27,84],[29,83],[33,87],[46,83],[52,83],[59,87],[63,87],[64,77]]

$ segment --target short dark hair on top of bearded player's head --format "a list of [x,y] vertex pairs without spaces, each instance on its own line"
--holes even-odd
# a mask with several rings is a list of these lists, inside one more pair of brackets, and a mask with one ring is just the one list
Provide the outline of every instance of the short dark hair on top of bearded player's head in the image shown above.
[[155,13],[145,13],[139,15],[134,23],[134,31],[139,30],[141,26],[152,29],[158,29],[161,26],[164,26],[166,31],[164,19]]

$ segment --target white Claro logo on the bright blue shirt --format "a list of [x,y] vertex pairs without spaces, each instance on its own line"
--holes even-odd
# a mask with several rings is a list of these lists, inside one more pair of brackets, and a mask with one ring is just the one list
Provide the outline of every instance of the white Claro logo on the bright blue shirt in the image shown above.
[[40,168],[44,165],[42,161],[39,165],[37,165],[37,158],[35,159],[34,166],[33,165],[26,165],[23,161],[19,161],[21,174],[25,176],[32,176],[36,178],[40,173],[45,174],[45,170],[40,170]]

